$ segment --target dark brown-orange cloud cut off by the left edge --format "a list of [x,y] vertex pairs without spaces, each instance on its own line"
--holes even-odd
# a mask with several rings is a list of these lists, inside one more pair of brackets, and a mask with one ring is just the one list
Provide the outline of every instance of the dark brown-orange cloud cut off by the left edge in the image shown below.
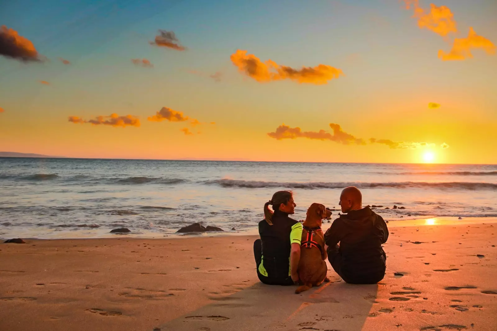
[[0,55],[24,62],[41,61],[33,43],[5,25],[0,27]]

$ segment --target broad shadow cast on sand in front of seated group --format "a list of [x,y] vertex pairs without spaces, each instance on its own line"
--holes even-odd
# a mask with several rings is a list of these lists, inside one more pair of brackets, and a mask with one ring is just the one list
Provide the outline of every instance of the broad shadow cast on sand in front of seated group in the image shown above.
[[256,283],[232,295],[218,297],[185,316],[154,330],[361,330],[378,285],[353,285],[344,281],[295,294],[295,286]]

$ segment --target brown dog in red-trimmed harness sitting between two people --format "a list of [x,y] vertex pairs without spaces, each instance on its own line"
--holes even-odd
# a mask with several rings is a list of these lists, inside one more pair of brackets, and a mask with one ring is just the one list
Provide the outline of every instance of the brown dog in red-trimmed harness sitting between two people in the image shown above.
[[323,218],[331,216],[331,211],[321,203],[313,203],[307,209],[307,217],[302,230],[302,244],[299,260],[299,286],[295,293],[307,291],[313,286],[319,286],[323,281],[330,281],[326,277],[328,267],[325,250],[325,237],[321,231]]

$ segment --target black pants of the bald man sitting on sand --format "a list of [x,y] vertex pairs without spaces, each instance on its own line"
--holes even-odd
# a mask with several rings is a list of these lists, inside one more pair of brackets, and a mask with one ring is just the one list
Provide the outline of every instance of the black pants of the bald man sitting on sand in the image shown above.
[[326,252],[328,253],[328,261],[330,261],[330,264],[335,272],[338,273],[338,275],[347,283],[376,284],[385,276],[387,261],[385,253],[383,253],[381,261],[378,262],[378,267],[375,267],[372,272],[368,272],[366,274],[354,274],[349,270],[343,269],[343,260],[338,245],[335,245],[335,247],[329,246]]

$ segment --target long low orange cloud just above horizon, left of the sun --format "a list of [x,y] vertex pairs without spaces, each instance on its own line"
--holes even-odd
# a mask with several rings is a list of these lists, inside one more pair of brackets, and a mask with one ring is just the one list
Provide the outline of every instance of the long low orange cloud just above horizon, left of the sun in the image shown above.
[[276,128],[275,132],[269,132],[271,138],[277,140],[281,139],[295,139],[295,138],[309,138],[318,140],[331,140],[335,142],[348,145],[350,143],[355,143],[358,145],[364,145],[366,142],[361,138],[356,138],[352,134],[343,132],[338,124],[330,123],[330,128],[333,130],[333,134],[326,132],[325,130],[320,130],[319,132],[306,131],[302,132],[300,128],[290,128],[286,125],[280,125]]

